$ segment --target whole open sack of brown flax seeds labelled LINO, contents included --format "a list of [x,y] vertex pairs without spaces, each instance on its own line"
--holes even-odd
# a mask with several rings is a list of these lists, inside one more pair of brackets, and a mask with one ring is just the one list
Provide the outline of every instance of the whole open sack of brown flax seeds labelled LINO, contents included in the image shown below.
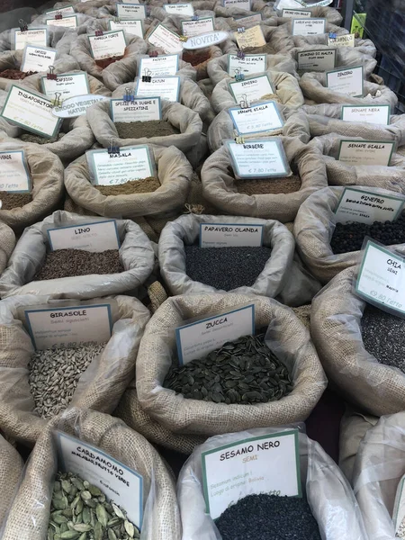
[[[152,273],[155,256],[148,237],[133,221],[115,220],[119,249],[51,250],[49,229],[95,226],[103,220],[55,211],[25,229],[0,278],[0,297],[51,294],[85,299],[135,291]],[[109,246],[112,239],[110,235]]]

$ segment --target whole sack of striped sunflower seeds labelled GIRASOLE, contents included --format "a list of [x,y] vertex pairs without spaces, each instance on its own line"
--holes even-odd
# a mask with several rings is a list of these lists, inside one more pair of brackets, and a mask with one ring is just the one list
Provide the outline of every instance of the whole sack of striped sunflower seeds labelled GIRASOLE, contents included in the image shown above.
[[[108,309],[111,318],[111,326],[105,329],[103,314],[98,315],[98,335],[105,336],[103,343],[91,341],[94,324],[90,326],[91,322],[86,323],[83,317],[86,309],[88,317],[94,320],[94,315],[90,315],[92,305],[100,304],[104,305],[104,311]],[[80,306],[84,306],[82,311]],[[60,343],[63,339],[58,336],[52,336],[58,342],[57,348],[49,347],[52,338],[38,338],[36,329],[38,332],[41,328],[48,329],[46,321],[42,327],[37,322],[34,330],[30,330],[35,339],[31,338],[27,310],[32,317],[38,314],[35,310],[45,309],[51,317],[67,317],[72,307],[77,310],[79,320],[71,321],[72,330],[67,338],[70,347],[63,348],[67,344]],[[0,308],[0,337],[4,343],[0,354],[0,423],[4,433],[31,445],[49,419],[65,410],[69,403],[108,413],[115,409],[130,382],[139,341],[149,319],[148,309],[139,300],[116,296],[77,302],[55,300],[55,295],[52,298],[25,294],[5,299]],[[75,341],[78,324],[87,325],[81,341]],[[96,338],[101,340],[98,335]],[[89,341],[85,343],[83,337],[87,336]]]

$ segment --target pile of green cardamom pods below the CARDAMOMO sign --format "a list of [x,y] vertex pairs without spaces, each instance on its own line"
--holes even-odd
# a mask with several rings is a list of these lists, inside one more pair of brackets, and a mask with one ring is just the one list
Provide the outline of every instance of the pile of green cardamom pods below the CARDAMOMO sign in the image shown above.
[[137,527],[97,486],[77,474],[58,473],[50,505],[48,540],[131,540]]

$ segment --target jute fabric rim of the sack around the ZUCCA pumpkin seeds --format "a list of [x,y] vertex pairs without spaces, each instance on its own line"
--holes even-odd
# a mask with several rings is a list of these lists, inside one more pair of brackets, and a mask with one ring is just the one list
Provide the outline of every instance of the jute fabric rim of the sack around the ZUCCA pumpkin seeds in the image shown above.
[[[256,328],[269,325],[266,343],[289,367],[293,391],[280,401],[227,405],[184,399],[163,388],[175,356],[175,328],[185,320],[202,319],[247,303],[255,304]],[[141,340],[136,381],[140,406],[153,419],[174,433],[206,436],[306,419],[326,386],[310,334],[293,311],[271,298],[235,293],[168,298],[149,321]]]

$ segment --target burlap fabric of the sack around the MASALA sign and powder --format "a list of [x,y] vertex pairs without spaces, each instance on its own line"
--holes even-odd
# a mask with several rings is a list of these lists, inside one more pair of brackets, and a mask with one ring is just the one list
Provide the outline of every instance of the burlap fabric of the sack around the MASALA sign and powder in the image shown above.
[[157,167],[160,186],[152,193],[103,195],[90,182],[85,156],[65,171],[65,186],[73,202],[100,216],[132,219],[144,215],[165,217],[183,208],[193,169],[184,154],[175,147],[148,145]]

